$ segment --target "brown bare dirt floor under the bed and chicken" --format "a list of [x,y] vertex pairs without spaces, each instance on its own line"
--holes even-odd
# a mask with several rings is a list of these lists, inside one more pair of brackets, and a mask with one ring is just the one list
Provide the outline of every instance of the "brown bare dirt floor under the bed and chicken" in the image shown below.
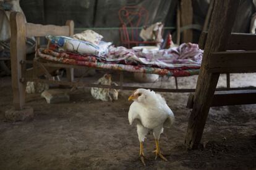
[[[196,80],[197,76],[179,78],[179,87],[195,87]],[[231,80],[231,87],[256,86],[255,74],[231,75]],[[225,81],[222,75],[218,86]],[[174,78],[141,85],[174,87]],[[168,162],[154,160],[150,132],[144,167],[136,128],[127,119],[132,91],[121,91],[115,102],[101,102],[88,89],[78,89],[70,93],[69,103],[51,105],[40,94],[27,95],[35,118],[9,123],[4,111],[12,107],[11,78],[0,78],[0,86],[0,169],[256,169],[256,105],[211,108],[202,145],[187,151],[183,142],[189,94],[162,93],[176,116],[174,126],[164,129],[160,139]]]

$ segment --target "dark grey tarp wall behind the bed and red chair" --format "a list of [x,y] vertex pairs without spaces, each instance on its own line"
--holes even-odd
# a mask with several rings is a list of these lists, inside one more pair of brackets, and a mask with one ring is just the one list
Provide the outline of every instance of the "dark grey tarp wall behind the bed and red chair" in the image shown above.
[[[163,22],[164,26],[176,26],[176,9],[178,0],[21,0],[28,22],[64,25],[66,20],[74,20],[75,28],[104,27],[110,30],[95,30],[102,34],[106,41],[119,44],[120,25],[118,10],[122,6],[143,6],[148,10],[148,24]],[[203,26],[210,0],[192,1],[193,23]],[[250,17],[255,12],[252,0],[241,0],[233,31],[249,33]],[[75,32],[81,32],[76,29]],[[165,31],[164,36],[166,35]],[[171,30],[173,33],[175,30]],[[197,42],[200,31],[194,30],[194,41]],[[173,37],[175,40],[175,37]]]

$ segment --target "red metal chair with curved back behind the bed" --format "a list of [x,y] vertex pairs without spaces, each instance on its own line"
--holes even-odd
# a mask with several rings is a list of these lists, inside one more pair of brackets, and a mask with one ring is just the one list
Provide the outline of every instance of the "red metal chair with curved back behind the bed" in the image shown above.
[[139,34],[141,26],[148,23],[148,10],[144,7],[124,6],[119,9],[120,39],[123,46],[128,48],[139,46],[139,44],[155,46],[157,41],[140,41]]

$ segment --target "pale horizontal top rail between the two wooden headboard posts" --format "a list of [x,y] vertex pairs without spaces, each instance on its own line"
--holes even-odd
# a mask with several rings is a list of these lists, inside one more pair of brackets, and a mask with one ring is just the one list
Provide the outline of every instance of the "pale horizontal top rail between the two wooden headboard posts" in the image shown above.
[[69,36],[69,26],[56,26],[56,25],[41,25],[26,23],[26,34],[28,37],[32,36]]

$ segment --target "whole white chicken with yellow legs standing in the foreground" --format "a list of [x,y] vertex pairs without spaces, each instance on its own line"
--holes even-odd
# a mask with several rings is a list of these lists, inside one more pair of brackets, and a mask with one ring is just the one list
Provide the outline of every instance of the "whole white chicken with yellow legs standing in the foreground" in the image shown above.
[[167,161],[161,153],[159,139],[161,133],[163,133],[163,126],[171,126],[174,123],[173,111],[168,107],[164,98],[154,91],[137,89],[130,95],[129,100],[134,100],[130,105],[128,118],[130,124],[135,121],[137,123],[137,133],[140,141],[140,160],[145,165],[143,142],[148,130],[152,129],[156,143],[155,159],[160,156],[164,161]]

